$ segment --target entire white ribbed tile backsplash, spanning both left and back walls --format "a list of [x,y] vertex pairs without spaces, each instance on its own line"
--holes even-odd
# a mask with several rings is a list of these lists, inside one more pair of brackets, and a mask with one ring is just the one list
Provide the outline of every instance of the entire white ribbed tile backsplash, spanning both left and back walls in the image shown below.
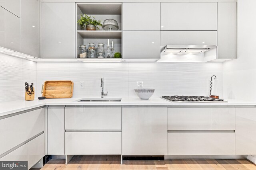
[[[74,98],[100,98],[100,78],[108,98],[137,97],[137,81],[154,88],[153,97],[213,94],[222,96],[222,63],[35,63],[0,53],[0,102],[24,100],[24,83],[34,82],[36,98],[46,80],[72,80]],[[84,81],[84,88],[80,87]]]

